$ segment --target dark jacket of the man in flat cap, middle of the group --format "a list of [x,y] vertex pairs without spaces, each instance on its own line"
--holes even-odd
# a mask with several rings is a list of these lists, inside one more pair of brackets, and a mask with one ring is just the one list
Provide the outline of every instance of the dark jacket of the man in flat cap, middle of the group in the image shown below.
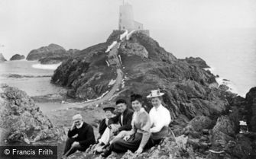
[[117,116],[114,116],[109,119],[108,124],[115,124],[119,123],[121,127],[118,128],[118,132],[121,132],[122,130],[131,130],[131,119],[132,119],[133,111],[130,109],[126,109],[123,113],[123,125],[121,122],[121,113],[119,113]]

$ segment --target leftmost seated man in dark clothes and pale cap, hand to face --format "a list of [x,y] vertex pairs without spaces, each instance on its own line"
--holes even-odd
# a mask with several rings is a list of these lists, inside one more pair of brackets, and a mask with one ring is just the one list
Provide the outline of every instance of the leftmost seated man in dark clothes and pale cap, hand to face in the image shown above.
[[76,151],[86,151],[89,145],[96,143],[93,128],[83,121],[80,114],[73,116],[73,125],[67,133],[64,156],[69,156]]

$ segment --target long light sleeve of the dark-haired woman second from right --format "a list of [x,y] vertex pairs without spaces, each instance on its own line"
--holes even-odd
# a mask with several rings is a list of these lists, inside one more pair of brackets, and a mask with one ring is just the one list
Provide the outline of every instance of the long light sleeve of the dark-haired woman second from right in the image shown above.
[[140,148],[144,148],[147,144],[148,139],[151,137],[151,119],[147,113],[142,113],[140,115],[140,122],[141,122],[141,131],[142,131],[142,138]]

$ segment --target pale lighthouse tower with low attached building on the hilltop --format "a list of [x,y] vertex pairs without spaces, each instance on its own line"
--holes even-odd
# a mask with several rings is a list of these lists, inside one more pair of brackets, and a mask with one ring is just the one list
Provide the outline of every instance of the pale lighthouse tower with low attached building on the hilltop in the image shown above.
[[119,8],[119,30],[143,30],[143,24],[138,21],[134,21],[134,14],[132,6],[123,1],[123,4]]

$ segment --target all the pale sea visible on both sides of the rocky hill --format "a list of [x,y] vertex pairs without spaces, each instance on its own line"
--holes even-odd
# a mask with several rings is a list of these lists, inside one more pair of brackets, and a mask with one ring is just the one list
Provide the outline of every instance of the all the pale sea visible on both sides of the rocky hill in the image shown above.
[[[219,75],[234,93],[245,97],[256,87],[256,29],[173,30],[151,32],[152,37],[179,59],[200,57]],[[50,76],[60,64],[41,65],[36,61],[0,63],[0,83],[18,87],[29,96],[58,94],[65,88],[50,83]]]

